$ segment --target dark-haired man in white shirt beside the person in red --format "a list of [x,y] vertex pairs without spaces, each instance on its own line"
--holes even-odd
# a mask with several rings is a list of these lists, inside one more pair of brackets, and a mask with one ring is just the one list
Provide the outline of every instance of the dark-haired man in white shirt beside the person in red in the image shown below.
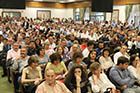
[[93,41],[88,41],[87,48],[83,50],[82,54],[85,57],[88,57],[90,50],[92,50],[94,47]]

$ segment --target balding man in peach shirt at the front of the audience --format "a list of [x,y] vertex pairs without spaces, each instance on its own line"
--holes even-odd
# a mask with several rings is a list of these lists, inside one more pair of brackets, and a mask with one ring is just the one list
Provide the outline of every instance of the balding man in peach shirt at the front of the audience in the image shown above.
[[45,70],[45,81],[41,83],[36,93],[71,93],[67,87],[56,80],[55,71],[52,69]]

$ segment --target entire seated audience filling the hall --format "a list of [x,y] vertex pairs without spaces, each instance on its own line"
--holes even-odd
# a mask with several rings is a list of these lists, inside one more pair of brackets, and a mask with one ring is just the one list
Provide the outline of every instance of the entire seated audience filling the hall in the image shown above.
[[2,77],[15,93],[140,93],[134,24],[0,17]]

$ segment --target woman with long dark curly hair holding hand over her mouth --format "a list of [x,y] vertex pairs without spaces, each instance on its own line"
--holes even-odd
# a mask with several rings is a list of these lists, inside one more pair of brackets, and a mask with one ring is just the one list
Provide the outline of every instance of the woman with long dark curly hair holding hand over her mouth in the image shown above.
[[80,65],[75,65],[69,71],[64,84],[72,93],[91,93],[87,73]]

